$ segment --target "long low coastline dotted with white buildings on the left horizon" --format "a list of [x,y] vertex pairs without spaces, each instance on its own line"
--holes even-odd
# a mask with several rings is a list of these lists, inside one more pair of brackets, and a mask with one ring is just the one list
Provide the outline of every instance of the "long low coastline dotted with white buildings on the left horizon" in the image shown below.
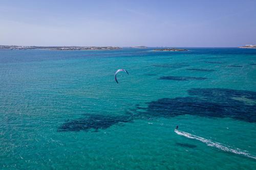
[[120,50],[118,46],[17,46],[0,45],[0,50]]

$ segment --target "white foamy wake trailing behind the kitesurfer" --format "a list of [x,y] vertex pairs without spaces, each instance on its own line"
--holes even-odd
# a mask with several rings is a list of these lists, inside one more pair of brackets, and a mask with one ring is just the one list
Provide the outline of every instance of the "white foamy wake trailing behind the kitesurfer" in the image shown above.
[[218,143],[218,142],[214,142],[214,141],[202,138],[200,136],[192,135],[192,134],[187,133],[187,132],[182,132],[182,131],[179,131],[179,130],[176,130],[176,129],[174,131],[178,135],[185,136],[185,137],[190,138],[190,139],[197,139],[197,140],[199,140],[203,143],[206,143],[210,147],[215,147],[215,148],[218,148],[222,151],[231,152],[231,153],[234,153],[234,154],[239,154],[239,155],[243,155],[243,156],[246,156],[246,157],[249,157],[249,158],[256,159],[256,156],[250,155],[249,153],[247,153],[247,151],[242,151],[238,148],[232,149],[228,145],[224,145],[224,144],[221,144],[221,143]]

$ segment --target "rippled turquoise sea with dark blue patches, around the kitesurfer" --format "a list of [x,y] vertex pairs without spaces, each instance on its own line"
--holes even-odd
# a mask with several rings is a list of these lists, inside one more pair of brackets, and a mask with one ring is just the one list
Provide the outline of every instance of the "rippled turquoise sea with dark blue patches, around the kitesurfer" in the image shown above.
[[240,48],[0,51],[0,169],[255,169],[255,64]]

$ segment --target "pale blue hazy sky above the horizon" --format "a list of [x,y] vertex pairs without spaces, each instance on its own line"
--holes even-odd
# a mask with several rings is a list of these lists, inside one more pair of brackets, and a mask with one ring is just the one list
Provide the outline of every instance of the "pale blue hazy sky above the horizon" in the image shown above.
[[246,44],[256,44],[256,0],[0,0],[0,45]]

